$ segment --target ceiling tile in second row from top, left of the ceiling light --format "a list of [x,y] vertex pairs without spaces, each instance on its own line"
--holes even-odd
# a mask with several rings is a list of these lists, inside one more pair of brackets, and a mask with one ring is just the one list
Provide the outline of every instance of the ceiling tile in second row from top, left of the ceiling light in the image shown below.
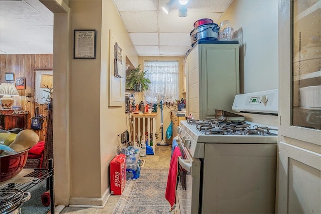
[[157,12],[120,12],[126,29],[129,33],[132,32],[157,32]]

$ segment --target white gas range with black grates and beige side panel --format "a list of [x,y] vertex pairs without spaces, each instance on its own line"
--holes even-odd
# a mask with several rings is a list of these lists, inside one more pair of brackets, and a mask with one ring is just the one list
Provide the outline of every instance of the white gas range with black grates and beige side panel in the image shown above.
[[[237,95],[233,103],[235,111],[275,117],[277,106],[277,90]],[[178,213],[274,212],[277,127],[226,118],[180,122],[179,163],[187,173],[177,189]]]

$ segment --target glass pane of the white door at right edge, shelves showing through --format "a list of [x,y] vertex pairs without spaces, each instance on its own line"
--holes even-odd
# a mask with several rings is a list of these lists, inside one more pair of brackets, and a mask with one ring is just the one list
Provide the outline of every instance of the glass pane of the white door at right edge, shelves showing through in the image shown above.
[[292,9],[292,125],[321,130],[321,1]]

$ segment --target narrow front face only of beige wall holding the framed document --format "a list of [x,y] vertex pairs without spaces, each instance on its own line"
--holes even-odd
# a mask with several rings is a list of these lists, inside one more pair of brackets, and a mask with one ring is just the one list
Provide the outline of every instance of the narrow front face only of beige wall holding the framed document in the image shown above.
[[[96,29],[97,31],[96,59],[70,60],[71,204],[82,203],[80,202],[82,197],[101,197],[99,102],[101,4],[101,1],[69,1],[70,30]],[[71,43],[70,48],[72,46]]]

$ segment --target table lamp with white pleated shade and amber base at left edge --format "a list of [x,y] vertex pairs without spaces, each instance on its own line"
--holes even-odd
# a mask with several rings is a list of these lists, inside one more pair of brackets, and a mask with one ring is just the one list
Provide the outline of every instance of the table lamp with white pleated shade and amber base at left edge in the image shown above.
[[2,109],[9,110],[11,109],[11,106],[14,103],[14,99],[11,96],[19,96],[19,93],[14,84],[1,83],[0,95],[3,95],[3,97],[0,98]]

